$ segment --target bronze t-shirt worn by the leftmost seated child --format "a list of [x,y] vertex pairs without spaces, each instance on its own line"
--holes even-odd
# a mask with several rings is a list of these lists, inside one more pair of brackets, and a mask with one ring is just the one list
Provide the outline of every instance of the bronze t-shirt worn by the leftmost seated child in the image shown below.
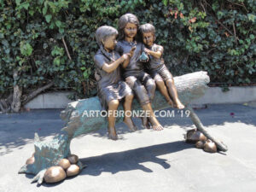
[[[112,58],[114,61],[118,60],[120,57],[119,53],[116,51],[112,51]],[[120,74],[120,66],[117,67],[113,72],[107,73],[104,70],[102,70],[103,65],[111,64],[113,61],[108,59],[107,56],[102,54],[101,49],[99,49],[96,52],[96,55],[94,56],[94,62],[96,65],[96,71],[98,75],[100,75],[101,79],[98,81],[99,87],[106,87],[109,85],[117,84],[121,80],[121,74]]]

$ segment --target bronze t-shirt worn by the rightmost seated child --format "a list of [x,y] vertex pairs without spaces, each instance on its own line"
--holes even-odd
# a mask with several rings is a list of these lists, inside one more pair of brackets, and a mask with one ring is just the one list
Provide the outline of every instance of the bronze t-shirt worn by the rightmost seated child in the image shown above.
[[[149,49],[154,51],[154,52],[160,51],[162,55],[164,53],[164,48],[161,45],[158,45],[158,44],[153,44],[152,47],[149,48]],[[149,64],[148,64],[148,69],[149,70],[150,69],[156,69],[158,67],[162,67],[165,64],[162,55],[160,56],[159,59],[155,58],[152,55],[149,55]]]

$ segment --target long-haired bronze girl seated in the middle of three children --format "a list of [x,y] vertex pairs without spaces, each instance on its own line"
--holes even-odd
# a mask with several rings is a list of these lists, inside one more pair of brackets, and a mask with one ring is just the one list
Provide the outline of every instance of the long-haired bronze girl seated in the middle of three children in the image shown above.
[[122,55],[129,53],[131,48],[135,47],[129,64],[124,67],[125,82],[129,84],[131,90],[134,90],[143,110],[150,113],[148,118],[143,118],[143,125],[149,128],[149,121],[154,130],[160,131],[163,127],[155,118],[150,103],[154,98],[154,79],[151,79],[150,75],[144,72],[144,64],[139,60],[144,46],[136,39],[138,27],[139,21],[136,15],[125,14],[119,18],[119,42],[116,50]]

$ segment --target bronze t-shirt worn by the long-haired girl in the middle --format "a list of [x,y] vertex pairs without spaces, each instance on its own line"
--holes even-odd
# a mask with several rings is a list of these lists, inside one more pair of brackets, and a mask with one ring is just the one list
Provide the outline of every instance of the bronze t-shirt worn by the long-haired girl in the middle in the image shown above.
[[139,58],[144,49],[144,45],[142,43],[129,43],[125,40],[121,40],[116,44],[115,47],[115,50],[118,51],[120,55],[123,55],[126,53],[130,53],[130,50],[134,45],[136,46],[136,49],[134,50],[133,55],[130,58],[128,66],[124,70],[125,78],[143,72],[143,62],[139,61]]

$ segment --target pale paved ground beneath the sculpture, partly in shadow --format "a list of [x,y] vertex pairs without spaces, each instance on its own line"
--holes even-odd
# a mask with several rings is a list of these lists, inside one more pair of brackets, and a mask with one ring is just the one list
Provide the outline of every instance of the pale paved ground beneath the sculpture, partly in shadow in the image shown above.
[[[171,109],[170,109],[171,110]],[[79,176],[37,186],[32,175],[17,174],[33,152],[34,133],[51,139],[63,122],[60,110],[33,110],[0,115],[0,192],[254,192],[256,191],[256,108],[210,105],[195,111],[207,130],[229,146],[227,153],[208,154],[183,142],[194,125],[175,111],[161,118],[164,131],[126,131],[117,126],[119,141],[106,130],[73,139],[71,150],[88,165]]]

